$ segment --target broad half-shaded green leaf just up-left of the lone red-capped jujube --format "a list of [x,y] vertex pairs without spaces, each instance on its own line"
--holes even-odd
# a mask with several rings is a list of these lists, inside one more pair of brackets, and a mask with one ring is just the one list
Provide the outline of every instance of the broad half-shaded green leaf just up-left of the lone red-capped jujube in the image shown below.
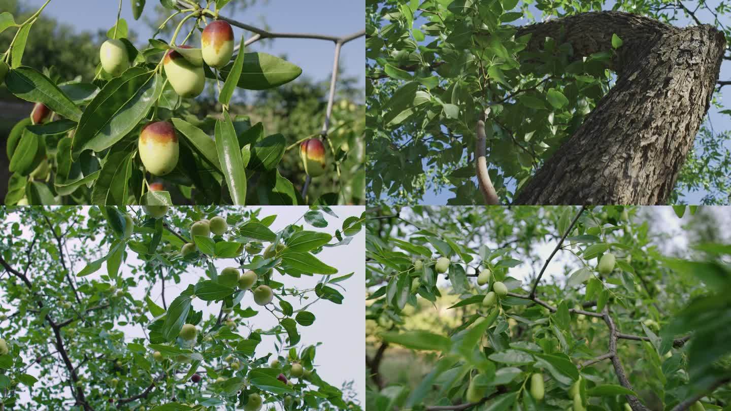
[[84,110],[76,128],[72,154],[102,151],[121,140],[147,116],[162,92],[159,74],[132,67],[113,78]]

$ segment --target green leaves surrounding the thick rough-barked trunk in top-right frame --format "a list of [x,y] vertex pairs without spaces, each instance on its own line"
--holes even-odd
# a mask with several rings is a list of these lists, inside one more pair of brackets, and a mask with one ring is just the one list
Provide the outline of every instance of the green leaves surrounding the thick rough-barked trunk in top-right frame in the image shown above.
[[[548,39],[526,59],[515,28],[598,10],[708,23],[731,39],[723,1],[366,1],[368,203],[418,204],[448,190],[447,204],[482,204],[474,129],[483,109],[491,180],[510,203],[614,82],[612,50],[567,64],[570,45]],[[731,113],[718,93],[713,105]],[[727,132],[704,122],[669,203],[729,203],[729,148]]]

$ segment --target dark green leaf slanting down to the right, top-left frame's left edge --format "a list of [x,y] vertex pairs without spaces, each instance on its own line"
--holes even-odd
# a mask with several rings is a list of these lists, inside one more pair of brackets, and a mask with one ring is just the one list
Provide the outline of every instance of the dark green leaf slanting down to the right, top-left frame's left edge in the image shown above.
[[82,117],[80,108],[50,78],[31,67],[12,69],[5,78],[7,89],[29,102],[42,102],[61,116],[73,121]]

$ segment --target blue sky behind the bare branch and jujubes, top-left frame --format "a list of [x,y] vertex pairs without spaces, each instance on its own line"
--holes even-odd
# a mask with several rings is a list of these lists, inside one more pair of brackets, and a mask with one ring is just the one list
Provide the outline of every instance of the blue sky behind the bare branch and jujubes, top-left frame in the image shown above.
[[[31,8],[41,7],[45,0],[24,0]],[[235,1],[234,1],[235,2]],[[159,4],[158,0],[147,0],[145,12]],[[67,23],[77,31],[107,30],[117,18],[118,1],[114,0],[51,0],[43,11],[44,15]],[[224,8],[221,15],[233,18],[251,26],[271,31],[306,32],[344,36],[363,30],[366,26],[366,10],[363,0],[308,0],[308,1],[257,1],[254,7],[238,11],[233,15]],[[143,12],[144,16],[144,12]],[[137,32],[139,39],[147,39],[152,31],[142,19],[132,18],[129,0],[122,0],[122,18],[129,29]],[[240,37],[240,29],[234,28],[235,37]],[[184,35],[184,34],[183,34]],[[247,36],[248,37],[248,36]],[[343,46],[340,64],[344,75],[357,77],[360,87],[365,86],[366,56],[365,37],[352,40]],[[325,40],[312,39],[274,39],[264,46],[257,42],[249,50],[259,50],[275,56],[282,54],[289,61],[302,67],[303,76],[314,80],[329,80],[333,69],[335,45]]]

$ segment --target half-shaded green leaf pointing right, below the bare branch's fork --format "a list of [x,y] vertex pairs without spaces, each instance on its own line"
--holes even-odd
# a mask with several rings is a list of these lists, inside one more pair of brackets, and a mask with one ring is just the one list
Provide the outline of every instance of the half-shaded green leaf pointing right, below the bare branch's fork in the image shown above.
[[[236,56],[238,59],[238,56]],[[221,78],[226,79],[234,63],[221,67]],[[302,69],[267,53],[244,53],[243,67],[237,86],[247,90],[267,90],[289,83],[302,74]],[[213,78],[213,77],[211,77]]]

